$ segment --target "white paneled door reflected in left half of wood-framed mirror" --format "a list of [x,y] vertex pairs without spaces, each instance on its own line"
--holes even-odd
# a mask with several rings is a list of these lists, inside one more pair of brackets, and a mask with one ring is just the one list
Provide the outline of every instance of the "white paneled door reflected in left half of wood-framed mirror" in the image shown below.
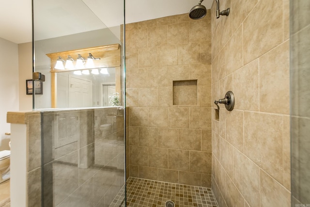
[[92,106],[92,81],[70,77],[69,107]]

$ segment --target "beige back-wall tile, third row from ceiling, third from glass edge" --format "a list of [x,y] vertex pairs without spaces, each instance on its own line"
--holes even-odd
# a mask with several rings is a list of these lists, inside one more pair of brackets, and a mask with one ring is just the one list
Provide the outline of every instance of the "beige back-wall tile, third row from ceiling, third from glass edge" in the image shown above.
[[157,47],[157,64],[160,66],[178,64],[178,46]]

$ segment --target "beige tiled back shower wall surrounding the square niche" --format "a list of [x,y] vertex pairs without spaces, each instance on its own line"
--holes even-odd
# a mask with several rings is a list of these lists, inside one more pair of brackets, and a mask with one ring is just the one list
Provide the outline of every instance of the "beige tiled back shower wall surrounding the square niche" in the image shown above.
[[[130,176],[211,187],[210,11],[207,14],[195,21],[184,14],[125,27]],[[180,97],[184,90],[173,93],[173,80],[197,80],[195,96]],[[182,98],[183,106],[173,105],[173,96]]]

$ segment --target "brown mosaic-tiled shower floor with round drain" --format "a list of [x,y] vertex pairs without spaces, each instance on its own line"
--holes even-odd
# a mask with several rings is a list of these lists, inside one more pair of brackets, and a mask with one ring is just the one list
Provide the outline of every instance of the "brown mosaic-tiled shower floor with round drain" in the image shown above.
[[[126,183],[127,207],[165,207],[169,200],[175,207],[218,207],[211,188],[134,177],[129,177]],[[110,207],[124,207],[124,188]]]

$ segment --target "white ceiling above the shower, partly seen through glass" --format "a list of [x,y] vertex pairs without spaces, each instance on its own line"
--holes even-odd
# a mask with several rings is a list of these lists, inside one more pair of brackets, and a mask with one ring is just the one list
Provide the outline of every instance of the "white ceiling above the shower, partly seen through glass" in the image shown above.
[[[124,23],[123,0],[34,1],[34,13],[38,16],[34,18],[35,25],[38,25],[35,28],[36,39],[115,27]],[[132,23],[188,13],[199,0],[126,0],[125,2],[125,21]],[[213,0],[205,0],[202,5],[210,9],[212,2]],[[0,38],[17,44],[31,42],[31,0],[6,0],[1,4]],[[57,31],[54,28],[58,28]]]

